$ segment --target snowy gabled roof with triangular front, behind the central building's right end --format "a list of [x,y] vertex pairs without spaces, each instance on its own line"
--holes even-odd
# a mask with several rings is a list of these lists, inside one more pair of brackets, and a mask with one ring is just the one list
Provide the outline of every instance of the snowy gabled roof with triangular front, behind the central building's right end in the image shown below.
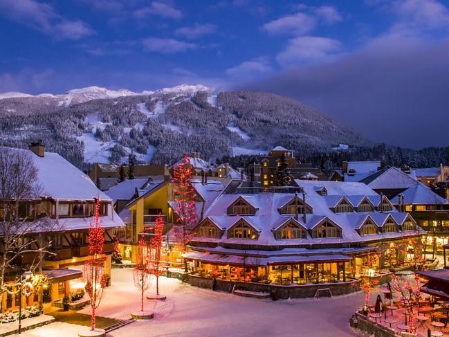
[[376,189],[405,189],[410,188],[416,183],[412,177],[402,172],[397,167],[384,167],[382,170],[367,176],[360,181],[367,184],[370,188]]

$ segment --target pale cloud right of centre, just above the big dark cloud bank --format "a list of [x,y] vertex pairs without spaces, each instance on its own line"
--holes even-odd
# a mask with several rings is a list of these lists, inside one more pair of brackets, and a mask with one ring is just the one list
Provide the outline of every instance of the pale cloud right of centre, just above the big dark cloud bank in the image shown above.
[[327,37],[304,36],[288,41],[284,51],[276,55],[282,66],[323,62],[340,51],[340,42]]

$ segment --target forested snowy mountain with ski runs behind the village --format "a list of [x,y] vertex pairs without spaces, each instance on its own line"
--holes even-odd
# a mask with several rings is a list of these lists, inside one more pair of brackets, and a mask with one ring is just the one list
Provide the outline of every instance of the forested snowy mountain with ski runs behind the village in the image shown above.
[[119,163],[131,151],[140,161],[173,163],[193,151],[213,159],[264,154],[274,145],[310,152],[333,143],[369,144],[331,116],[269,93],[182,84],[142,93],[90,86],[8,95],[0,95],[0,144],[26,147],[44,139],[49,151],[78,167]]

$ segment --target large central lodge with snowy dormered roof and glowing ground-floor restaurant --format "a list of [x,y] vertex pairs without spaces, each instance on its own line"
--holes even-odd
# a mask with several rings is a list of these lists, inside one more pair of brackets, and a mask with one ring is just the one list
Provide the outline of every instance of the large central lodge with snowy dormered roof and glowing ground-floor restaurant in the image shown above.
[[[416,263],[420,228],[385,196],[363,183],[294,183],[226,188],[204,212],[191,251],[184,255],[194,273],[244,282],[317,284],[349,282],[370,270]],[[369,263],[373,252],[378,259]]]

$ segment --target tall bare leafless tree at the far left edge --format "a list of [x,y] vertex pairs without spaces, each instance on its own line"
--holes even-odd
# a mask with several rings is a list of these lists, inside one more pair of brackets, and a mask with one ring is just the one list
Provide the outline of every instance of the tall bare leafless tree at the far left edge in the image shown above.
[[[17,293],[17,284],[6,282],[26,258],[28,270],[41,266],[51,242],[42,232],[57,225],[39,208],[42,187],[31,155],[19,149],[0,147],[0,295]],[[32,258],[30,258],[32,256]],[[40,269],[40,268],[39,268]],[[0,297],[1,297],[0,296]]]

